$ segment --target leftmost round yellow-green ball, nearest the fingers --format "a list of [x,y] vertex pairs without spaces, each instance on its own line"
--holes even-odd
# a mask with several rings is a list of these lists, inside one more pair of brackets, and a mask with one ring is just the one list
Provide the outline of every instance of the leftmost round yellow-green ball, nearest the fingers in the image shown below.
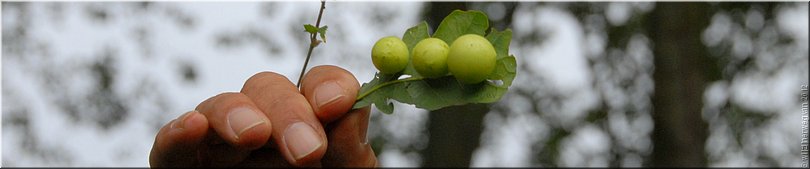
[[377,40],[371,48],[371,62],[383,74],[394,74],[408,65],[408,46],[395,36]]

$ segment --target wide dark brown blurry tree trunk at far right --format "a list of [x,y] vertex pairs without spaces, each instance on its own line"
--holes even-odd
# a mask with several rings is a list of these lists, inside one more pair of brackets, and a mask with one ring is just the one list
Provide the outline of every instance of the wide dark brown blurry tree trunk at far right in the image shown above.
[[650,166],[706,166],[703,91],[716,65],[701,35],[710,18],[707,3],[656,3],[648,18],[655,55]]

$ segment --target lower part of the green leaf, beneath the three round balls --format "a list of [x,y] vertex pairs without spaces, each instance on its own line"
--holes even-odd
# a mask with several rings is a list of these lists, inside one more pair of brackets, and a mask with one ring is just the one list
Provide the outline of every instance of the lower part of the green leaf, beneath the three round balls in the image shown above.
[[360,88],[358,100],[353,108],[374,104],[381,112],[391,114],[393,104],[389,100],[413,104],[417,108],[429,111],[454,105],[493,103],[506,94],[509,85],[515,78],[515,71],[508,71],[514,70],[514,67],[508,67],[515,65],[514,56],[499,59],[497,64],[498,67],[505,66],[499,68],[504,69],[503,75],[500,76],[502,78],[494,79],[503,81],[501,85],[492,81],[467,85],[459,83],[453,76],[435,79],[423,77],[392,79],[392,77],[380,77],[378,74],[371,82],[363,84]]

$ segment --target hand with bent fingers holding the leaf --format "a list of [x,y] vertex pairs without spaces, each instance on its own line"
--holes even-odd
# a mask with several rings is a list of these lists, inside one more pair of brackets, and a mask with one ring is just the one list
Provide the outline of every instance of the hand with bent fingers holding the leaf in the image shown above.
[[376,167],[366,132],[369,108],[355,109],[360,85],[348,71],[317,66],[299,91],[261,72],[238,93],[211,97],[164,125],[152,167]]

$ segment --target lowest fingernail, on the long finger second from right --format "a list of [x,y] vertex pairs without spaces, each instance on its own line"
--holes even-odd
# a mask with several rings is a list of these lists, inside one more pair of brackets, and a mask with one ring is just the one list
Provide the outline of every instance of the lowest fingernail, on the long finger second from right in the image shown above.
[[284,131],[287,150],[296,159],[306,157],[323,145],[315,129],[304,122],[297,122]]

